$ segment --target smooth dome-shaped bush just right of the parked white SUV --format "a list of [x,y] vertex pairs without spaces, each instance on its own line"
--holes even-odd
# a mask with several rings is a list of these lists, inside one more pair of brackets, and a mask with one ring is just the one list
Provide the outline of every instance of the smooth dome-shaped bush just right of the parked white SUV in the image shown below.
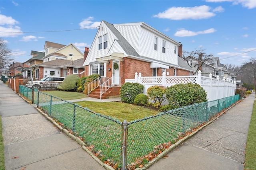
[[76,91],[77,82],[79,80],[80,77],[76,74],[68,75],[64,78],[62,84],[57,86],[57,89],[62,91]]

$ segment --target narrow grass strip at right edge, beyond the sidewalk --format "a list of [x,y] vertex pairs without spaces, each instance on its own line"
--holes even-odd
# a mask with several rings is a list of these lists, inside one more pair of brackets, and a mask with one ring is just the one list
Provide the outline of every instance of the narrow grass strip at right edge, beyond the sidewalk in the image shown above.
[[254,102],[252,110],[252,118],[247,136],[245,169],[256,170],[256,102]]

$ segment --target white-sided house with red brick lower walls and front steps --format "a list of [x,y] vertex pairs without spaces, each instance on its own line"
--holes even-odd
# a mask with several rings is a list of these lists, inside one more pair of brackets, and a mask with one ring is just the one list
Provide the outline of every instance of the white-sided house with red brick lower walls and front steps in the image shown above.
[[162,72],[166,76],[190,75],[194,70],[179,59],[181,54],[178,41],[144,22],[102,21],[84,62],[85,75],[113,77],[112,83],[119,85],[134,78],[135,72],[144,76],[162,76]]

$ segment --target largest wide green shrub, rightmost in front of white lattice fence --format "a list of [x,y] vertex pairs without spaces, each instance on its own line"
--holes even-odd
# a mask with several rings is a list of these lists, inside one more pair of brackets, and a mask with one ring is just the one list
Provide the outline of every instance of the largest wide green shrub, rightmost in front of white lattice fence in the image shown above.
[[207,95],[199,84],[176,84],[166,89],[166,98],[173,108],[206,102]]

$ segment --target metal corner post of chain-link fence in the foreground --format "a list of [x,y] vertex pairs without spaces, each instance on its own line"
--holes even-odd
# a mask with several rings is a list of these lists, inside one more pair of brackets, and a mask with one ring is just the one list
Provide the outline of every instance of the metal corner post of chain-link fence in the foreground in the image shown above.
[[124,120],[122,123],[122,170],[126,168],[127,131],[129,123]]

